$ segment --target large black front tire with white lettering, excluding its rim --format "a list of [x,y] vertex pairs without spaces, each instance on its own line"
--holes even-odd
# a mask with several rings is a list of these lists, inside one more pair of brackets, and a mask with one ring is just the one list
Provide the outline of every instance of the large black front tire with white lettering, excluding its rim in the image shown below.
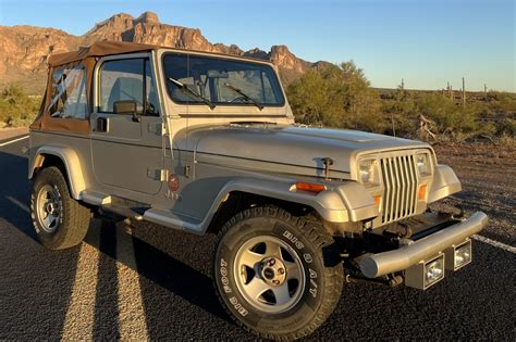
[[[286,312],[267,313],[253,306],[234,278],[237,251],[249,239],[272,236],[300,256],[305,288]],[[308,261],[308,262],[307,262]],[[230,316],[263,339],[295,340],[312,333],[333,313],[342,293],[344,269],[333,238],[312,216],[292,216],[275,206],[253,207],[231,218],[218,235],[213,265],[216,292]]]

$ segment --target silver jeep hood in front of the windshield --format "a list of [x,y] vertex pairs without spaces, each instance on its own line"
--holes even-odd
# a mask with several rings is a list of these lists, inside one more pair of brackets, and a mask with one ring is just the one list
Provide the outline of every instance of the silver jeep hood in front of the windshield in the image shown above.
[[[235,167],[259,166],[260,169],[271,168],[279,173],[321,176],[324,169],[322,159],[331,157],[333,165],[330,169],[340,174],[337,178],[349,178],[351,165],[355,165],[352,161],[361,154],[430,149],[423,142],[357,130],[267,124],[191,127],[183,137],[187,139],[180,139],[184,144],[175,139],[174,144],[186,145],[187,142],[189,150],[194,148],[198,163],[213,163],[219,159],[223,165],[234,162]],[[248,163],[243,163],[242,160]]]

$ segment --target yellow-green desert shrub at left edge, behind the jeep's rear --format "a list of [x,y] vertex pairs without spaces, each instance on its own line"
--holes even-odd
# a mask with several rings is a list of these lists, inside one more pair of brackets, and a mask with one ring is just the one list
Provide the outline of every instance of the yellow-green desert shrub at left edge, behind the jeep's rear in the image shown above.
[[0,92],[0,123],[28,126],[36,116],[41,98],[29,97],[20,86],[12,85]]

